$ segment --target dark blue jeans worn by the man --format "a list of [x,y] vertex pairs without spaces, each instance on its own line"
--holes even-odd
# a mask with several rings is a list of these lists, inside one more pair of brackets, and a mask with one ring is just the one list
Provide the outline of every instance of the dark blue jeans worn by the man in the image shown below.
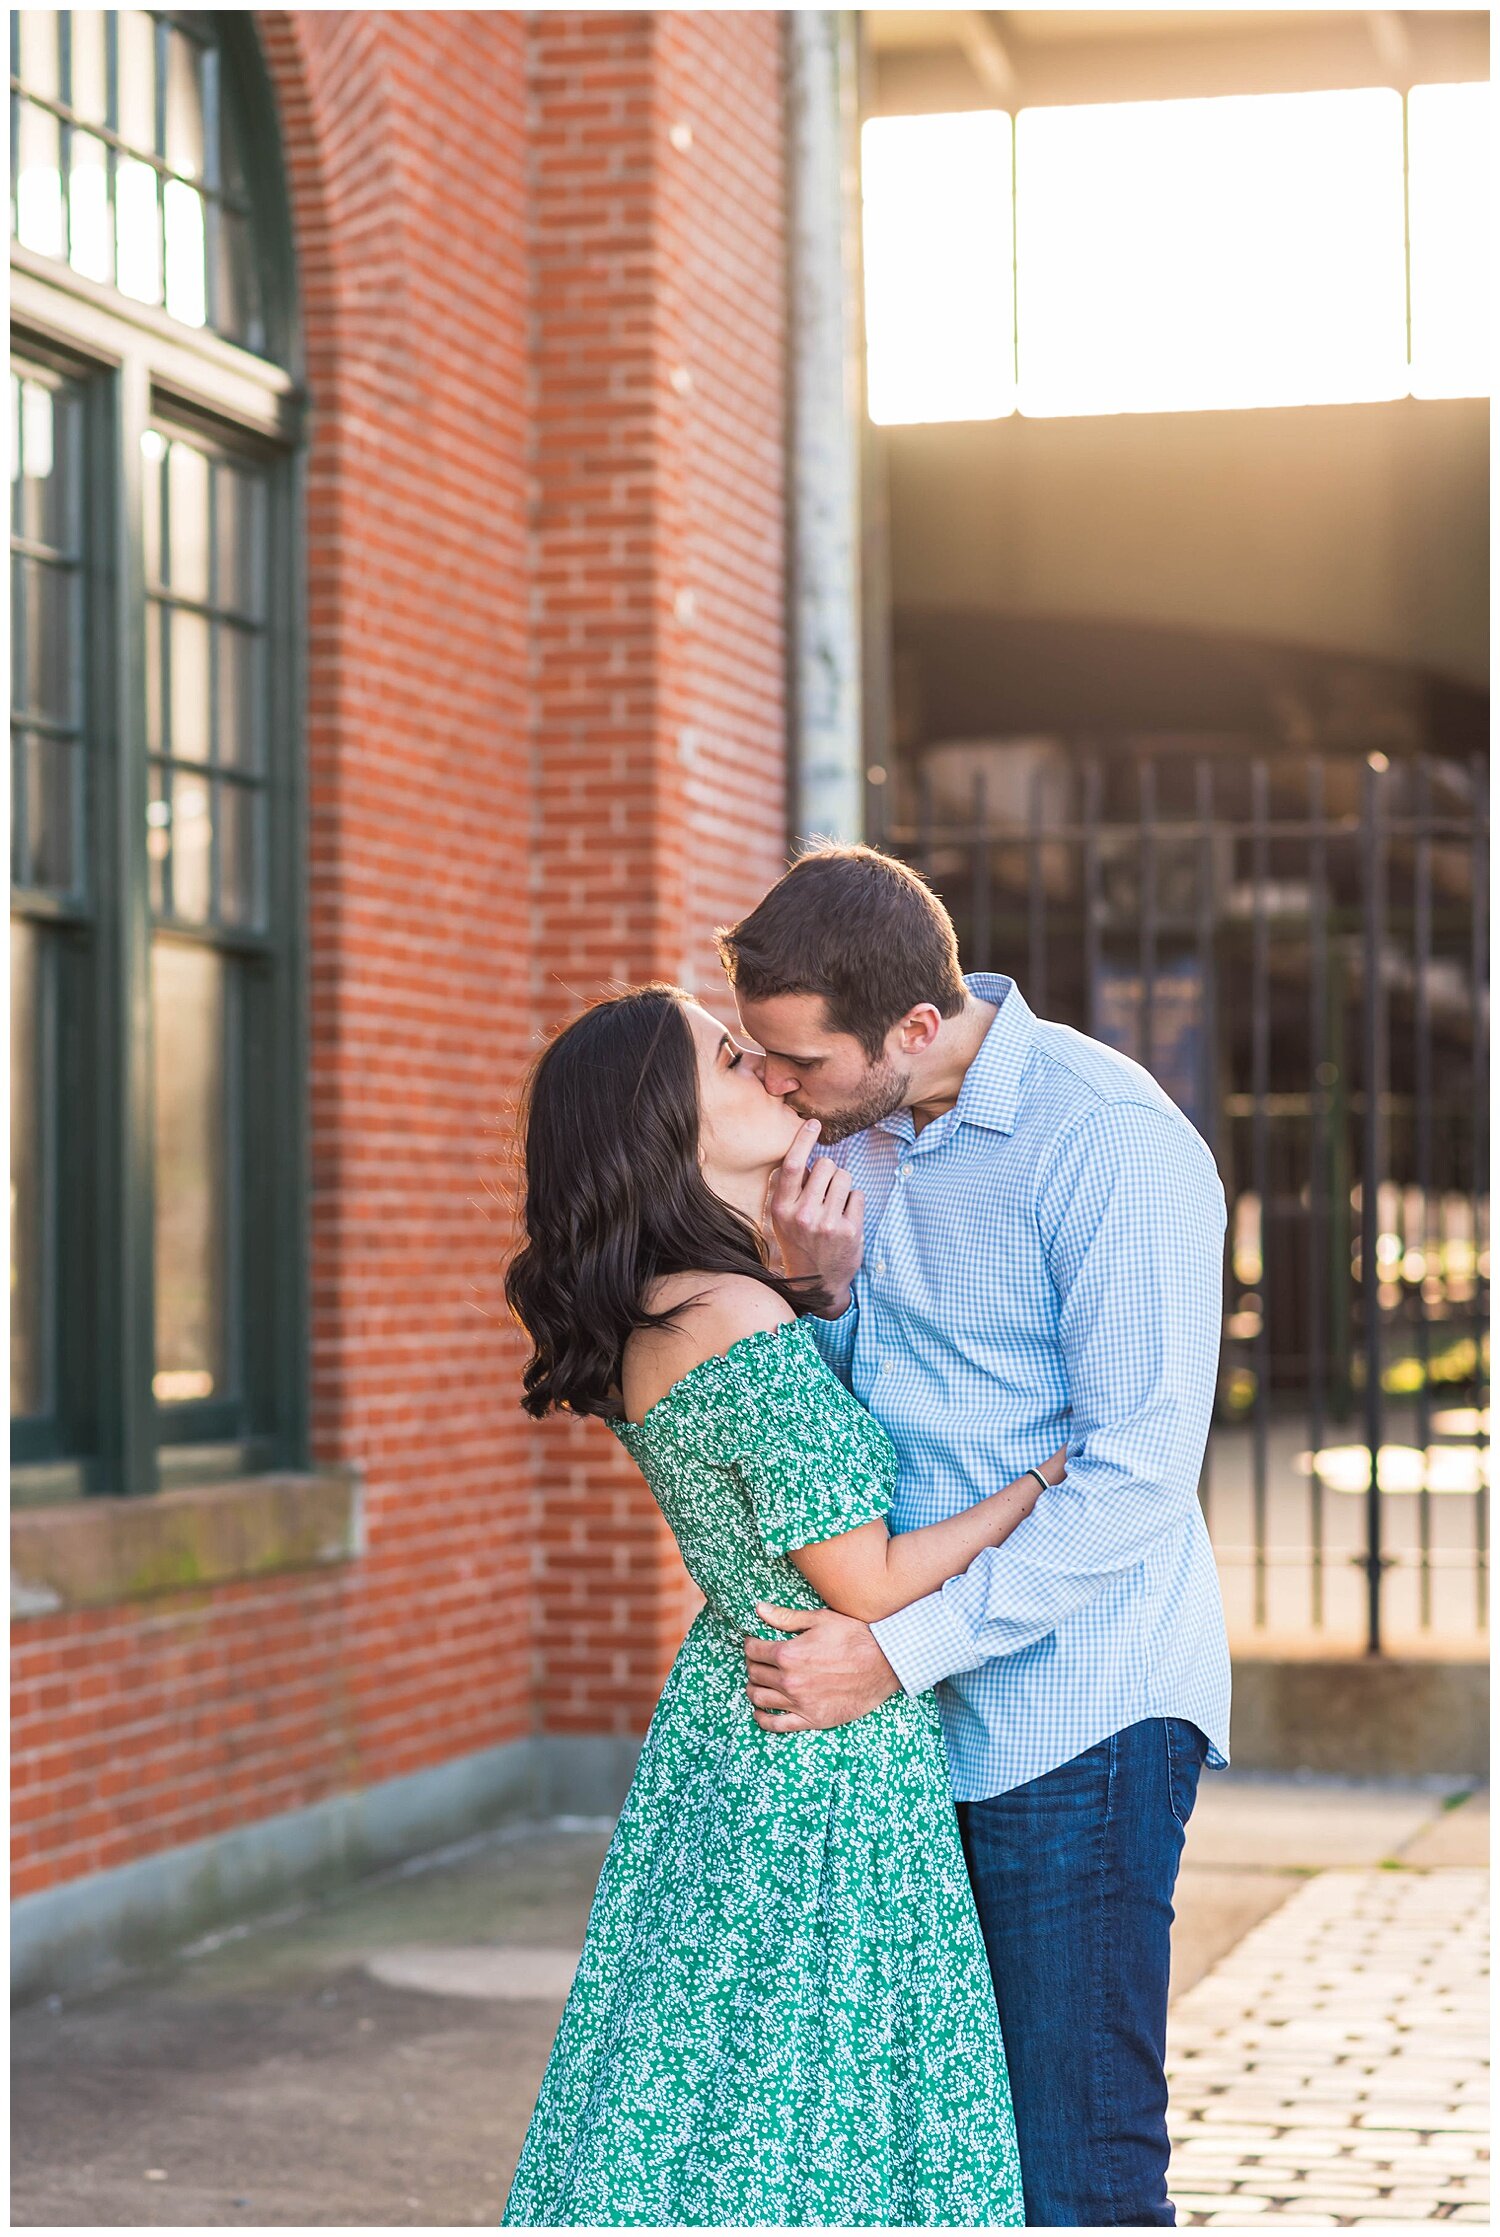
[[1171,2226],[1167,1955],[1207,1740],[1151,1716],[959,1803],[1010,2065],[1028,2228]]

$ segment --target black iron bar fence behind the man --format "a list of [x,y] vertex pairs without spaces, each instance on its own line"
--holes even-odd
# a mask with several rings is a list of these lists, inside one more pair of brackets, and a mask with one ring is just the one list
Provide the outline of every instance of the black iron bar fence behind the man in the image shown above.
[[966,969],[1167,1087],[1230,1201],[1232,1629],[1460,1640],[1489,1579],[1489,765],[932,749],[872,772]]

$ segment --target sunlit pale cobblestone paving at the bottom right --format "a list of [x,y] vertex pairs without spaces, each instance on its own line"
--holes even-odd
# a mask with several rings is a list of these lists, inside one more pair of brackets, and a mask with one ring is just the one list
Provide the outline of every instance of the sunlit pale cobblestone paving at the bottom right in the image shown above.
[[1319,1872],[1167,2031],[1183,2226],[1491,2221],[1489,1875]]

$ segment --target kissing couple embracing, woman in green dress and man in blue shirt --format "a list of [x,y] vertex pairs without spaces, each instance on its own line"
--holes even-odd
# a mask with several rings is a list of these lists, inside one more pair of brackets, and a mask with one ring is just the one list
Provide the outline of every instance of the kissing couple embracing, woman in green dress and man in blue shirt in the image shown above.
[[718,942],[744,1040],[613,993],[523,1105],[523,1405],[608,1425],[704,1606],[505,2224],[1171,2224],[1214,1159],[872,848]]

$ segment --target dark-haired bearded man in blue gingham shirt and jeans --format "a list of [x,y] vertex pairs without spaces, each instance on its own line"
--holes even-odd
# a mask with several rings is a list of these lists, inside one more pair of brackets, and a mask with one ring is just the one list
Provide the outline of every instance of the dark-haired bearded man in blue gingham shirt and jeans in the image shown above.
[[[939,1689],[1033,2226],[1171,2224],[1167,1964],[1230,1655],[1198,1506],[1223,1297],[1214,1161],[1127,1056],[959,973],[903,863],[818,848],[720,933],[765,1085],[809,1123],[771,1195],[811,1333],[890,1432],[894,1530],[1066,1441],[1066,1483],[872,1626],[762,1608],[771,1731]],[[814,1141],[841,1143],[814,1159]]]

